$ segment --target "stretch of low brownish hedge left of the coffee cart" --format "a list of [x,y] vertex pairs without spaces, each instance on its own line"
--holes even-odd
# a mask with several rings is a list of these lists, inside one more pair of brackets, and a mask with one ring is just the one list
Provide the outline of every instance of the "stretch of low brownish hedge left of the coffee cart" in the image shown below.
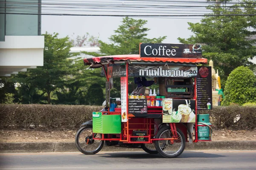
[[79,127],[92,119],[102,106],[87,105],[0,105],[0,127]]

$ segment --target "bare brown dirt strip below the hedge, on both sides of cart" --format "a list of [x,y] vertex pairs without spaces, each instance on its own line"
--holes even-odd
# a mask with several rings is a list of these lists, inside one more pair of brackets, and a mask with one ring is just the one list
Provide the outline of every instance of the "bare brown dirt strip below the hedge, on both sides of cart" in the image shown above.
[[[0,130],[0,142],[75,142],[77,129]],[[213,130],[212,141],[256,141],[256,130]]]

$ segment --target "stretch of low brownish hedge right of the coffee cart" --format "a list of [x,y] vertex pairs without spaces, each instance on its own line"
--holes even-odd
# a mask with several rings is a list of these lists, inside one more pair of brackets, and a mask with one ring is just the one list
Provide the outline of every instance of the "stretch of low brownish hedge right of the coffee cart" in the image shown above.
[[209,114],[214,127],[232,129],[254,129],[256,106],[213,106],[212,110],[201,110],[198,114]]

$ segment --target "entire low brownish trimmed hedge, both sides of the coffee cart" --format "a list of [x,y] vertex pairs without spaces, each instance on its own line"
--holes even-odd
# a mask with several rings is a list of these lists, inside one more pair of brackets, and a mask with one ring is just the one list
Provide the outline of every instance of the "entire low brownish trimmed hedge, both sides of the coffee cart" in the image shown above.
[[[101,109],[89,105],[0,105],[0,128],[77,128],[92,119],[93,111]],[[255,128],[256,106],[213,106],[213,110],[200,110],[198,114],[209,114],[215,128]],[[237,116],[240,119],[234,122]]]

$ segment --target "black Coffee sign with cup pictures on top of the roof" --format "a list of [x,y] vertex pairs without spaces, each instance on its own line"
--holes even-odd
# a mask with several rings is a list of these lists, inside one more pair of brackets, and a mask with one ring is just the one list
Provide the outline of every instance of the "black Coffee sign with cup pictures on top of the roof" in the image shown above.
[[202,58],[201,44],[140,44],[140,57]]

